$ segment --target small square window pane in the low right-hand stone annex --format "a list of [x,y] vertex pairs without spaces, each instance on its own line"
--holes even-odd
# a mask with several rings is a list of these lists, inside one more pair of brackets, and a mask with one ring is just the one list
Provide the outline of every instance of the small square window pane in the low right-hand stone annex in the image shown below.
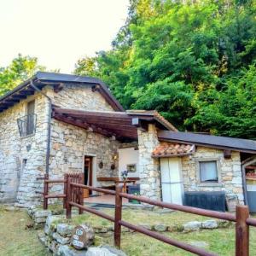
[[199,162],[201,183],[218,183],[217,161]]

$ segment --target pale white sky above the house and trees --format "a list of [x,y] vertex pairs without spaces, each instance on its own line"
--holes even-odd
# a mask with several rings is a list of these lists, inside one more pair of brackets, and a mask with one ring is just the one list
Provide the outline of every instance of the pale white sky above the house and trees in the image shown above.
[[72,73],[76,61],[111,49],[129,0],[0,0],[0,67],[19,53]]

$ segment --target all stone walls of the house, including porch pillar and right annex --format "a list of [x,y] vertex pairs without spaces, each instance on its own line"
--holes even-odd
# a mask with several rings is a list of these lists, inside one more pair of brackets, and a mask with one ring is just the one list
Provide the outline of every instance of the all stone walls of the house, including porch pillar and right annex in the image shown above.
[[[99,92],[91,90],[90,85],[64,84],[57,93],[51,86],[46,86],[44,93],[55,106],[61,108],[113,111]],[[32,136],[20,137],[17,119],[26,115],[27,102],[32,100],[35,100],[37,130]],[[45,172],[48,113],[49,102],[40,93],[0,113],[0,202],[17,201],[27,207],[42,199],[36,191],[43,190],[43,183],[37,177],[43,176]],[[148,131],[138,129],[137,132],[141,195],[160,199],[160,162],[152,158],[152,152],[159,144],[156,127],[150,124]],[[55,178],[63,177],[66,172],[83,172],[84,155],[88,155],[93,157],[93,170],[96,171],[93,185],[113,184],[97,183],[96,177],[119,176],[119,160],[113,156],[118,155],[119,148],[125,147],[127,144],[119,143],[114,137],[104,137],[51,119],[49,176]],[[196,163],[201,159],[212,158],[219,163],[219,183],[214,186],[202,185]],[[103,163],[102,168],[99,167],[100,162]],[[113,164],[114,170],[111,169]],[[182,157],[182,173],[185,191],[224,190],[228,196],[237,196],[243,202],[239,152],[232,151],[231,159],[224,159],[223,150],[197,147],[194,154]],[[61,191],[62,186],[54,188],[55,191]]]

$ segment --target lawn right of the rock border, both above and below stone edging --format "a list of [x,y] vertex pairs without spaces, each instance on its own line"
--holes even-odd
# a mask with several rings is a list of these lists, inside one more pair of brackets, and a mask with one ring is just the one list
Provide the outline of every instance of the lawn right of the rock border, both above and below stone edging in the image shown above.
[[[104,212],[113,216],[113,209],[104,209]],[[123,210],[122,219],[132,224],[184,224],[189,221],[202,221],[210,219],[184,212],[165,212],[156,213],[143,210]],[[109,226],[113,225],[106,219],[96,217],[96,215],[85,213],[80,216],[73,216],[73,224],[90,223],[93,226]],[[200,230],[191,233],[182,232],[165,232],[165,236],[172,237],[177,241],[207,242],[209,247],[206,249],[218,253],[219,255],[235,255],[235,227],[217,229],[217,230]],[[100,237],[97,236],[97,243],[113,245],[113,236]],[[194,255],[185,251],[167,245],[161,241],[157,241],[151,237],[138,233],[123,233],[121,239],[121,248],[128,256],[165,256],[165,255]],[[256,228],[250,228],[250,255],[256,255]]]

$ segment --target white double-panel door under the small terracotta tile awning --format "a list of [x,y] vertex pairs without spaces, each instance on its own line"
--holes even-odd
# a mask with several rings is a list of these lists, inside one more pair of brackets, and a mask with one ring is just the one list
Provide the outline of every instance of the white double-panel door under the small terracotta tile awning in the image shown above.
[[183,204],[183,181],[180,158],[160,159],[162,200]]

